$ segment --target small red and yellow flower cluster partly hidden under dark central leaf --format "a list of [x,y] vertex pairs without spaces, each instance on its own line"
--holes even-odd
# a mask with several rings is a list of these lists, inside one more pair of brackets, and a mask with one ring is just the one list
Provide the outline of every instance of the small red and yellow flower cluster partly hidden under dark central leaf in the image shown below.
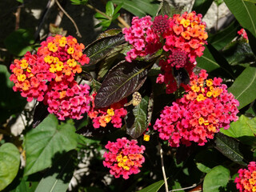
[[[95,98],[96,93],[92,94]],[[111,122],[114,127],[121,128],[122,118],[126,117],[127,110],[123,108],[127,99],[123,99],[120,102],[112,104],[110,107],[94,109],[94,100],[92,101],[92,108],[88,112],[90,119],[93,119],[94,128],[99,128],[100,126],[105,127],[107,123]]]

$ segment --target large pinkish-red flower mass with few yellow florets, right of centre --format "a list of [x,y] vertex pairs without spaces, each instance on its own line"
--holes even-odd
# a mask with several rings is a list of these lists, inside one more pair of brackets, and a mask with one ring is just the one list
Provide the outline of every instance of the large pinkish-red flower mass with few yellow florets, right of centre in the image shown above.
[[207,76],[206,70],[201,70],[199,76],[192,74],[187,94],[166,106],[155,122],[154,130],[160,138],[169,140],[170,146],[190,146],[191,142],[203,146],[219,128],[228,129],[230,122],[238,120],[238,100],[227,92],[221,78]]

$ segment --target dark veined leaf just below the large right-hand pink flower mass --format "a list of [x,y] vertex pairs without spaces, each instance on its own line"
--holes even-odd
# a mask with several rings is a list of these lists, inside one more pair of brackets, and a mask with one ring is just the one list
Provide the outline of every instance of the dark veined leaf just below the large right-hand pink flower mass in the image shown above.
[[214,147],[224,154],[227,158],[230,158],[233,162],[239,165],[246,166],[246,158],[250,158],[250,149],[243,146],[241,142],[238,142],[235,138],[230,138],[225,134],[218,133],[215,135]]

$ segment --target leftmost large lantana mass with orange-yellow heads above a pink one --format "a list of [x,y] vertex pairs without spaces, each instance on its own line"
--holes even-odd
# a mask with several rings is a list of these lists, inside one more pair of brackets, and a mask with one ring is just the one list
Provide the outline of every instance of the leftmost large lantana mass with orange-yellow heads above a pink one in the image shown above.
[[82,118],[90,107],[90,86],[78,85],[74,75],[82,72],[81,65],[90,59],[82,54],[85,46],[72,36],[56,35],[41,43],[37,54],[27,52],[10,65],[14,91],[31,102],[33,98],[48,105],[48,111],[59,119]]

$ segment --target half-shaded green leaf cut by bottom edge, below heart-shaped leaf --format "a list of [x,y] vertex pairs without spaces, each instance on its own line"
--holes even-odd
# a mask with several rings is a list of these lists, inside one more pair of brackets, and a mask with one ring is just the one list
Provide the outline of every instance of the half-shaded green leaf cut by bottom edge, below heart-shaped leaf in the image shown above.
[[64,154],[62,158],[46,172],[35,192],[66,191],[74,173],[74,158],[77,158],[77,156],[78,154],[75,150]]

